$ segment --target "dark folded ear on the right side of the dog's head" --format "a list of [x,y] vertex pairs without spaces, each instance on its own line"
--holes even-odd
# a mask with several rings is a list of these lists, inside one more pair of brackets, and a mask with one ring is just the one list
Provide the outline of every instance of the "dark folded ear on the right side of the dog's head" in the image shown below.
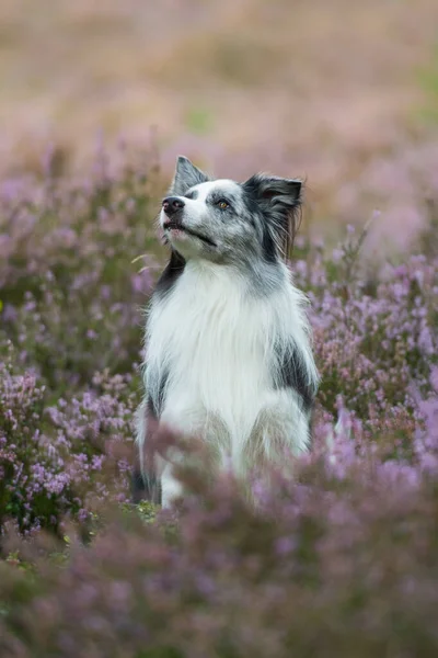
[[243,188],[260,204],[280,256],[289,258],[300,225],[302,182],[256,173]]

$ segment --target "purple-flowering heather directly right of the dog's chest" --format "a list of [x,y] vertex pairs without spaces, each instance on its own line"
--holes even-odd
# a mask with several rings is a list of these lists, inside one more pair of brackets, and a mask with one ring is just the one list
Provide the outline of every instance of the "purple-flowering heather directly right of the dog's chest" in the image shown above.
[[[342,392],[364,420],[413,411],[410,383],[428,387],[437,363],[438,261],[412,254],[378,274],[358,261],[364,234],[348,227],[346,241],[296,263],[299,285],[309,288],[321,402],[331,411]],[[379,427],[372,427],[372,431]]]

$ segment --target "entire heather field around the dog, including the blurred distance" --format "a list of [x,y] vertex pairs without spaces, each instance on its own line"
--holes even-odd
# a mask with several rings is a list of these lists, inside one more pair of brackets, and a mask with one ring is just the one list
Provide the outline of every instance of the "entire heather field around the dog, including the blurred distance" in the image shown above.
[[[1,658],[435,658],[435,0],[1,13]],[[196,451],[177,510],[129,504],[177,152],[307,178],[313,449],[257,512]]]

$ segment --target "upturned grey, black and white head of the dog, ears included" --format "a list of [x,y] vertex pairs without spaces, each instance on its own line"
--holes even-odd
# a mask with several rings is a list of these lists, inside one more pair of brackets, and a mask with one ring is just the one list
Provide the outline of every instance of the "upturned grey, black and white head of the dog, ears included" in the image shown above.
[[185,259],[242,262],[287,258],[301,205],[301,181],[255,174],[244,183],[210,180],[178,157],[160,225]]

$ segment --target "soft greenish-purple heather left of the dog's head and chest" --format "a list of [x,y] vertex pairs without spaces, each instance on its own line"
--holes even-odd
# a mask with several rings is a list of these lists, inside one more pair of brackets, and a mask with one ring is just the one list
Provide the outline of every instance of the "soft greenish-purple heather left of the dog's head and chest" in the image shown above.
[[127,372],[138,359],[153,256],[141,272],[131,260],[153,243],[148,180],[128,167],[113,178],[96,170],[82,185],[48,174],[0,194],[4,331],[50,388],[105,367]]

